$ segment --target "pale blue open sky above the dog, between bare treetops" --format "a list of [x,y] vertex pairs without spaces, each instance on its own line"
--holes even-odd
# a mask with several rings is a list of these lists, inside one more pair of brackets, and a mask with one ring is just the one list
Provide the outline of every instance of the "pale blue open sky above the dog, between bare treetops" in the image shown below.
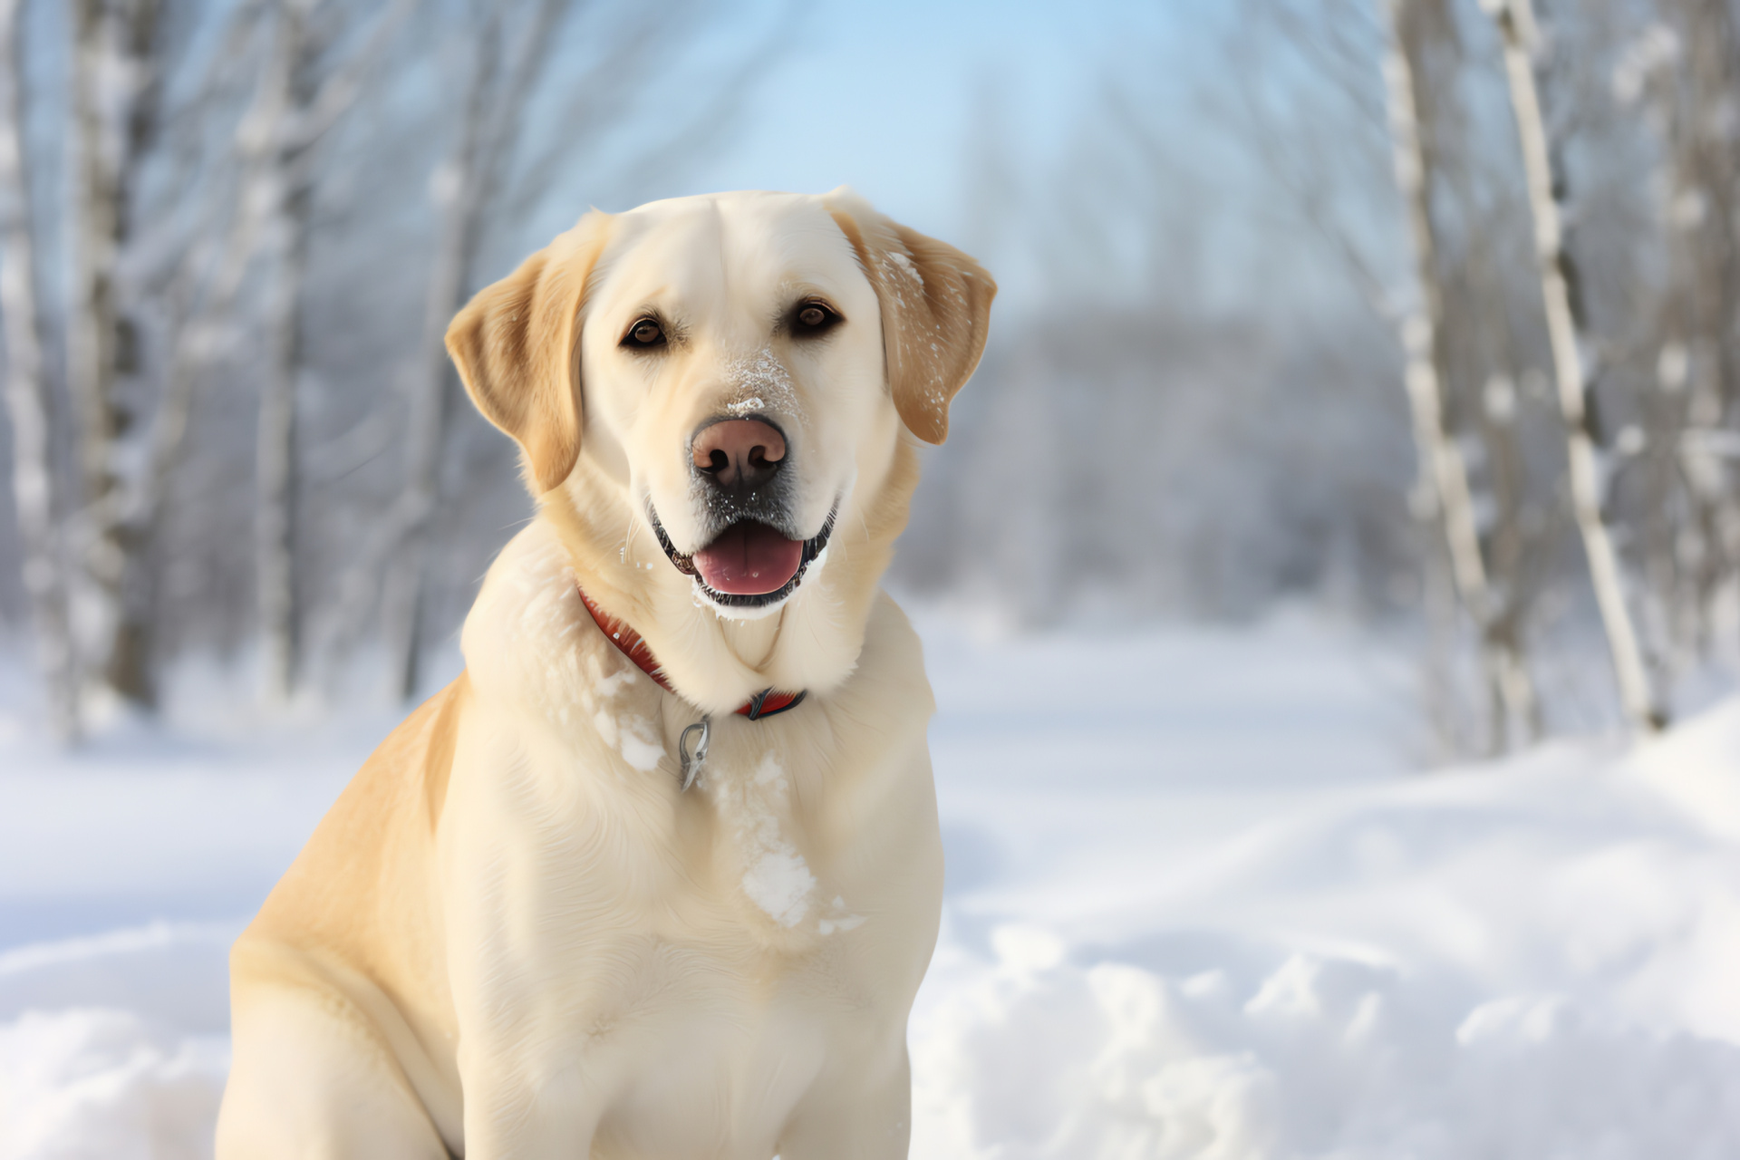
[[696,188],[846,183],[915,228],[959,231],[978,94],[992,87],[1009,101],[1014,160],[1041,165],[1105,70],[1176,33],[1164,12],[1105,0],[814,5]]

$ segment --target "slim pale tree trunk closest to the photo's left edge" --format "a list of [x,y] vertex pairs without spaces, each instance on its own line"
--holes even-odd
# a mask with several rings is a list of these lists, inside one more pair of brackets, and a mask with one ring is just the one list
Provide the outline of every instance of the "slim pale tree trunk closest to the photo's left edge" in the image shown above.
[[78,736],[78,694],[66,584],[54,532],[49,463],[49,386],[37,318],[30,167],[24,151],[24,0],[0,0],[0,320],[5,323],[5,402],[12,424],[12,501],[24,551],[24,591],[50,729]]

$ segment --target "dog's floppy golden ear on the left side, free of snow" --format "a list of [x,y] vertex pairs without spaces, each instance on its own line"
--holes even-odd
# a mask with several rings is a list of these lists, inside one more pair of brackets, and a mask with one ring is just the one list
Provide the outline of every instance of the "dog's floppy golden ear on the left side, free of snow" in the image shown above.
[[539,494],[566,480],[579,457],[579,310],[609,223],[592,210],[478,290],[447,327],[447,353],[466,393],[519,442]]

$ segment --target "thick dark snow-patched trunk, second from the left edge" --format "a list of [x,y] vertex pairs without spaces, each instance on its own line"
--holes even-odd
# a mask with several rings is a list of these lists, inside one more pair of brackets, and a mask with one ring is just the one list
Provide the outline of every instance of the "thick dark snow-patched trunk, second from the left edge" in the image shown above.
[[[124,584],[139,544],[122,518],[117,475],[130,417],[122,379],[136,369],[137,334],[117,270],[129,233],[134,167],[150,132],[157,0],[77,0],[73,141],[78,158],[75,277],[66,372],[78,414],[78,520],[87,583],[89,668],[124,701],[151,704],[148,624],[129,616]],[[94,673],[87,670],[85,677]]]

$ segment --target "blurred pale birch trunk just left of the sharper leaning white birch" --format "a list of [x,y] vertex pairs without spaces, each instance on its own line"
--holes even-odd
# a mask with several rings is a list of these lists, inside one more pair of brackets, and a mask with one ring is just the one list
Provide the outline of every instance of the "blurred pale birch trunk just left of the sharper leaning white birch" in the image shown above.
[[1415,261],[1411,310],[1399,317],[1406,357],[1404,381],[1413,417],[1415,450],[1420,461],[1420,490],[1436,501],[1430,506],[1436,508],[1444,530],[1456,595],[1481,633],[1481,656],[1493,703],[1489,748],[1500,753],[1509,746],[1510,722],[1533,720],[1535,696],[1528,670],[1516,656],[1512,642],[1496,631],[1500,610],[1486,581],[1486,560],[1481,555],[1469,470],[1455,435],[1446,430],[1444,292],[1437,270],[1437,231],[1432,221],[1432,153],[1427,148],[1422,122],[1422,108],[1425,108],[1423,71],[1415,59],[1420,38],[1413,35],[1409,21],[1416,2],[1378,0],[1389,28],[1383,80],[1395,188],[1408,212]]

